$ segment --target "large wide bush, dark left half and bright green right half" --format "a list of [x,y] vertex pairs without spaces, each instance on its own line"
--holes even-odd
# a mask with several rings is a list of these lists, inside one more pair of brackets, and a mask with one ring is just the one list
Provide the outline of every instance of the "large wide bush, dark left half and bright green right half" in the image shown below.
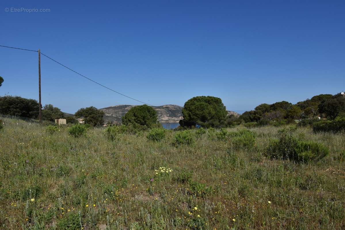
[[270,140],[266,153],[271,159],[290,159],[307,163],[319,161],[329,154],[329,150],[322,143],[302,141],[292,134],[282,133],[279,140]]

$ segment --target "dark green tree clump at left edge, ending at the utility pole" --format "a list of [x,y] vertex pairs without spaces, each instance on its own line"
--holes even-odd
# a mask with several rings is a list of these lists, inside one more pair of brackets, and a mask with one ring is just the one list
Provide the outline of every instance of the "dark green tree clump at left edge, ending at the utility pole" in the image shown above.
[[37,118],[38,102],[33,99],[27,99],[18,96],[0,97],[0,114]]

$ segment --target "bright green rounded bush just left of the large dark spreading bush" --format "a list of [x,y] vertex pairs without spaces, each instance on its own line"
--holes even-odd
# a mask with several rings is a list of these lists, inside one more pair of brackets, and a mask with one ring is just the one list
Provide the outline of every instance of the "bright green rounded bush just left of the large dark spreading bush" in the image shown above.
[[255,147],[256,134],[248,129],[242,129],[238,132],[230,132],[229,136],[231,137],[231,142],[236,149],[252,149]]

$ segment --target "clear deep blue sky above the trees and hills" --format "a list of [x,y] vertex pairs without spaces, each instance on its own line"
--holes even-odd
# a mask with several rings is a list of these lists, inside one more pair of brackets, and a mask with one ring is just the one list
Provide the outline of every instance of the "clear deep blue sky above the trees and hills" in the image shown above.
[[[345,1],[1,1],[0,45],[41,49],[153,105],[209,95],[243,112],[345,90],[344,12]],[[0,47],[0,76],[0,96],[38,100],[37,53]],[[140,104],[46,57],[41,76],[42,104],[65,112]]]

